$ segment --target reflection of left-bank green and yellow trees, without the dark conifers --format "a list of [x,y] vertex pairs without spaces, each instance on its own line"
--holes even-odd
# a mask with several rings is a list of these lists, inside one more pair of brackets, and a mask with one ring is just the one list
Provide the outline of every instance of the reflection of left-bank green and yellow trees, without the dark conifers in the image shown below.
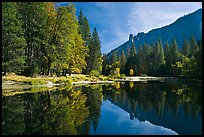
[[[80,90],[65,89],[6,97],[2,102],[2,134],[79,134],[89,114],[86,100]],[[11,107],[13,103],[15,107]],[[15,112],[17,109],[21,112]],[[17,131],[13,128],[18,127],[16,119],[22,124]]]

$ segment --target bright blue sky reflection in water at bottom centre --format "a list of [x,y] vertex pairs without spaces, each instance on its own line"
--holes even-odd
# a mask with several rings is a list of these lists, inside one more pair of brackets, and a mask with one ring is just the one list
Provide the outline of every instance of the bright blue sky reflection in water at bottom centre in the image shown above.
[[101,119],[97,130],[91,128],[91,134],[130,134],[130,135],[177,135],[171,129],[157,126],[149,121],[130,120],[130,114],[110,101],[102,102]]

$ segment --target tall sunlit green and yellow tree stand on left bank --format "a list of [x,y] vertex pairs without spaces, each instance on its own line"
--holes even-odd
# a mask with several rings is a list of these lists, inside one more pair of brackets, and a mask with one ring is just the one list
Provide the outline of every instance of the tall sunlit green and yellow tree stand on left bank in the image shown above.
[[77,19],[74,4],[2,3],[2,72],[20,75],[65,75],[101,72],[98,32],[86,16]]

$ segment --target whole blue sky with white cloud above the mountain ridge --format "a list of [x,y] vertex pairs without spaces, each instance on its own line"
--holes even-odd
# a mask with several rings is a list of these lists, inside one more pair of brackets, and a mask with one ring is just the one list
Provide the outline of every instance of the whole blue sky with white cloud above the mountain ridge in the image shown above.
[[[202,2],[74,2],[87,17],[91,31],[96,27],[101,52],[108,53],[129,38],[173,23],[179,17],[202,8]],[[67,5],[68,2],[58,2]]]

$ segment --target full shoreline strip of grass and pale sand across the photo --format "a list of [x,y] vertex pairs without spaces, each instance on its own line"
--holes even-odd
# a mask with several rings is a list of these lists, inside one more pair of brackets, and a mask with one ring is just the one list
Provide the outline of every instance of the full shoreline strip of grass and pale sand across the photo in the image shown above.
[[195,79],[181,79],[175,77],[152,77],[152,76],[123,76],[123,77],[110,77],[100,75],[98,77],[83,75],[83,74],[72,74],[61,77],[48,77],[38,75],[36,77],[26,77],[16,74],[8,74],[2,76],[2,90],[9,89],[29,89],[35,87],[55,87],[60,85],[87,85],[87,84],[114,84],[116,82],[147,82],[157,81],[164,83],[175,83],[175,82],[196,82],[202,83],[202,80]]

